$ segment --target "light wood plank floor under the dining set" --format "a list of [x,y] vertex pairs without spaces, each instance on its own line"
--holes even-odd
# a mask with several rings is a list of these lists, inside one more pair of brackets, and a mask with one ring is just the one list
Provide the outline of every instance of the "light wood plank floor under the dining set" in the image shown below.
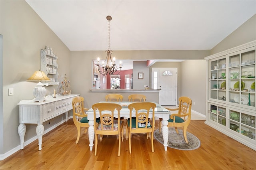
[[[158,128],[158,122],[156,123]],[[121,143],[118,154],[116,136],[104,136],[98,144],[98,154],[90,151],[88,134],[81,134],[78,144],[72,119],[43,136],[42,150],[38,140],[25,146],[0,162],[0,169],[13,170],[252,170],[256,169],[256,151],[214,130],[204,121],[191,121],[188,132],[201,141],[196,150],[175,150],[154,140],[155,152],[151,152],[150,140],[145,134],[132,136],[132,154],[128,140]]]

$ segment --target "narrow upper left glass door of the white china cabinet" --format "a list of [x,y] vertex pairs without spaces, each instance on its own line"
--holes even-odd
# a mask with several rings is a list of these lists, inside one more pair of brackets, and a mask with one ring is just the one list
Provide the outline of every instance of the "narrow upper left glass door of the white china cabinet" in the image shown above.
[[210,98],[226,101],[226,57],[210,62]]

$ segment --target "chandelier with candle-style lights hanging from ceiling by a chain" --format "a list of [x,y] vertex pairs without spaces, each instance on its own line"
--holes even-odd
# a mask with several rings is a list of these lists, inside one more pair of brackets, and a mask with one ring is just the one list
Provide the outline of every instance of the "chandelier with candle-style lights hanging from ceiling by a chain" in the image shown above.
[[[111,58],[111,54],[112,54],[112,50],[110,50],[109,48],[109,42],[110,42],[110,21],[112,20],[111,16],[107,16],[107,20],[108,20],[108,50],[106,50],[107,53],[107,57],[104,61],[104,63],[102,63],[101,65],[99,64],[100,58],[98,57],[98,63],[96,64],[98,66],[98,71],[100,74],[103,75],[112,75],[113,73],[115,73],[116,71],[118,71],[118,67],[115,64],[115,57],[112,59]],[[104,65],[106,63],[106,65]],[[122,68],[121,63],[119,64],[119,72],[117,72],[117,74],[120,73]]]

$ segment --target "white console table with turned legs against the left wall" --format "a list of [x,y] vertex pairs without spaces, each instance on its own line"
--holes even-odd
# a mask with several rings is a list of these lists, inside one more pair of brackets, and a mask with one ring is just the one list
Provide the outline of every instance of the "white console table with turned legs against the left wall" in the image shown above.
[[42,150],[43,123],[63,113],[66,113],[66,121],[68,121],[68,111],[72,110],[72,99],[76,96],[79,95],[58,95],[56,98],[48,96],[44,102],[20,101],[17,104],[20,107],[20,125],[18,127],[20,148],[24,149],[25,124],[37,124],[38,145],[39,150]]

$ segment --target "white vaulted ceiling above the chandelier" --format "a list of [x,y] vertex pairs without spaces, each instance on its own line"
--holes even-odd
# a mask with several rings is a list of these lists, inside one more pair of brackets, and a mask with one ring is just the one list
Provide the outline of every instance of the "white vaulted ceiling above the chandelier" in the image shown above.
[[255,0],[26,0],[71,50],[212,49],[256,14]]

